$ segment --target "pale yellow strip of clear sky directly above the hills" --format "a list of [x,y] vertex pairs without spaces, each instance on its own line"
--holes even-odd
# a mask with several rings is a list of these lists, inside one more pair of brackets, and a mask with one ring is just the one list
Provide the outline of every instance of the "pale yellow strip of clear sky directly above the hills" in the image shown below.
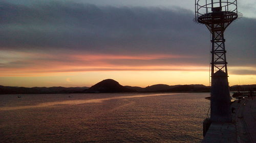
[[[2,79],[0,85],[17,87],[91,87],[109,78],[118,81],[121,85],[142,88],[154,84],[209,85],[209,72],[207,71],[101,71],[0,78]],[[255,75],[229,75],[229,85],[255,84],[254,78]]]

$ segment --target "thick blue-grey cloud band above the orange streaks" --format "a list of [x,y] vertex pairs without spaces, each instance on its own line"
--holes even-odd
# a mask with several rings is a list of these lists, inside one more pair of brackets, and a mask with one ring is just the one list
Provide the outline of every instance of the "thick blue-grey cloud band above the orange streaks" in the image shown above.
[[[196,56],[190,59],[196,64],[208,63],[205,59],[209,55],[209,32],[205,26],[193,23],[194,14],[188,10],[99,7],[65,1],[36,5],[6,1],[0,5],[1,49],[127,55],[169,53]],[[255,65],[255,23],[255,19],[243,18],[227,29],[230,65]]]

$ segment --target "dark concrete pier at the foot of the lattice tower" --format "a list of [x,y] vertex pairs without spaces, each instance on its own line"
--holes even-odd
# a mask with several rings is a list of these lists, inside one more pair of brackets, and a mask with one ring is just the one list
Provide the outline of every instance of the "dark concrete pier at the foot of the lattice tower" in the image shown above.
[[256,99],[240,99],[234,101],[231,107],[232,122],[212,122],[202,143],[256,142]]

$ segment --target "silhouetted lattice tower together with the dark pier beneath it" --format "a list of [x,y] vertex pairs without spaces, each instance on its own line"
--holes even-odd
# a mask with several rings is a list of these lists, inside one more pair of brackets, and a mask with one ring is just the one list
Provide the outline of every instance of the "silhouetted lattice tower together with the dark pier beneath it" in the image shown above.
[[232,104],[231,112],[224,32],[232,21],[242,16],[237,10],[237,0],[196,0],[195,14],[195,22],[205,24],[212,35],[210,118],[203,123],[202,142],[254,142],[255,129],[248,128],[256,128],[255,118],[250,118],[255,101],[243,101],[242,105],[240,100],[236,101],[238,104]]

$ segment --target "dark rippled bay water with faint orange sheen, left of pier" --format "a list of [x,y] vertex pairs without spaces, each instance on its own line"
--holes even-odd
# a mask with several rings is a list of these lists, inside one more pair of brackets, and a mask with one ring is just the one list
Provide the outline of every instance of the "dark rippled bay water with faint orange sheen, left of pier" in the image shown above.
[[208,95],[0,95],[0,141],[199,142]]

